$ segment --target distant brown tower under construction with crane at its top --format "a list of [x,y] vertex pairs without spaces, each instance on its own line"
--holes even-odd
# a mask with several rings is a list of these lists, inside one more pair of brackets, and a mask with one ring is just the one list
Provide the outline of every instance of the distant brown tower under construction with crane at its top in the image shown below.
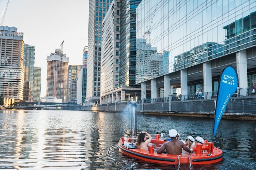
[[52,96],[67,101],[68,57],[61,49],[47,56],[46,97]]

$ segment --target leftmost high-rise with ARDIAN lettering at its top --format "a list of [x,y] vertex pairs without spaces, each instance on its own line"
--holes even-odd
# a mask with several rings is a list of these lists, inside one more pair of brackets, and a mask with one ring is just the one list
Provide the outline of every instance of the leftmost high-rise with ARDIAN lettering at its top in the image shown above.
[[23,100],[23,33],[15,27],[0,26],[0,53],[0,96],[8,106]]

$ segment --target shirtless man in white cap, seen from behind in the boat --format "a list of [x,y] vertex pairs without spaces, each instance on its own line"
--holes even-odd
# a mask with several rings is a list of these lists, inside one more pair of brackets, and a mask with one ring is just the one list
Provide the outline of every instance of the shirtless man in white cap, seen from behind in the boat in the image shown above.
[[187,152],[193,152],[191,151],[183,142],[177,140],[177,131],[175,129],[171,129],[169,131],[169,136],[171,137],[171,140],[168,142],[165,142],[158,150],[157,153],[162,153],[165,149],[168,154],[181,154],[182,149],[184,149]]

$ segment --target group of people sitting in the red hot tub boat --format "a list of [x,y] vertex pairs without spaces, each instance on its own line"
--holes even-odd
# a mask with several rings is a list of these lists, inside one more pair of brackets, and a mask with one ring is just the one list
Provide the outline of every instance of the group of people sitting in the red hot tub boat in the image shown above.
[[[169,137],[171,140],[165,142],[157,150],[157,153],[163,153],[166,150],[168,154],[181,154],[182,149],[191,153],[193,152],[191,147],[196,146],[198,143],[204,145],[204,139],[199,136],[195,139],[192,136],[188,136],[185,142],[178,140],[180,134],[175,129],[169,130]],[[143,150],[148,150],[148,144],[151,142],[151,140],[151,135],[148,132],[142,131],[138,135],[137,142],[134,143],[134,146]],[[187,144],[187,146],[185,144]]]

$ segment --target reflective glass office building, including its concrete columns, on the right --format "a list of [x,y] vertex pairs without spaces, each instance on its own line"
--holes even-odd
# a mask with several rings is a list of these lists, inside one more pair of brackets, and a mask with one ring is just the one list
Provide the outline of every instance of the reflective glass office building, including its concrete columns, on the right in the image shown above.
[[[236,67],[239,88],[256,82],[254,0],[143,0],[136,29],[137,47],[147,41],[136,54],[136,83],[142,91],[151,87],[152,98],[162,97],[163,89],[165,97],[217,91],[228,64]],[[141,59],[149,47],[157,52]],[[163,51],[170,52],[169,61],[148,69]]]

